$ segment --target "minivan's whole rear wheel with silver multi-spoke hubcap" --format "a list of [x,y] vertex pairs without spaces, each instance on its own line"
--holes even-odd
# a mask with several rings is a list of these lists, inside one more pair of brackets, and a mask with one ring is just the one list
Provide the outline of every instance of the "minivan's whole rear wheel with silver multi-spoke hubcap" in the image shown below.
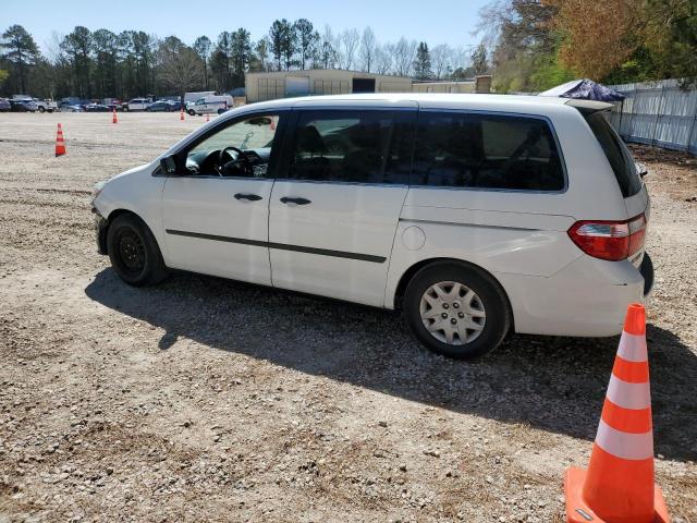
[[420,269],[406,288],[403,308],[414,337],[449,357],[484,356],[511,327],[503,290],[486,272],[464,264],[435,263]]

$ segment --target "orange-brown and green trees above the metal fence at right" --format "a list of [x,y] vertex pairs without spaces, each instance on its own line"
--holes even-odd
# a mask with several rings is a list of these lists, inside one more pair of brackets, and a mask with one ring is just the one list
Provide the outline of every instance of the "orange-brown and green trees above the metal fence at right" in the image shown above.
[[479,34],[502,93],[578,77],[697,84],[697,0],[496,0]]

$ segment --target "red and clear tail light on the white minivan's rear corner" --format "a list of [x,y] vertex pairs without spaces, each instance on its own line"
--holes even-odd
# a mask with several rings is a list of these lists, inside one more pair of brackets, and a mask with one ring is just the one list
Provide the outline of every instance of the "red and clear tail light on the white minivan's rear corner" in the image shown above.
[[625,221],[577,221],[568,229],[568,236],[588,256],[620,262],[644,247],[646,217]]

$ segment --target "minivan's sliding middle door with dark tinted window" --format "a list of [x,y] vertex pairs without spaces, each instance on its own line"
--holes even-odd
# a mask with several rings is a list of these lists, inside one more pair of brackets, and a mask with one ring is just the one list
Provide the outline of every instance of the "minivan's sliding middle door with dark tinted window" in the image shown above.
[[383,306],[413,110],[302,110],[269,209],[273,285]]

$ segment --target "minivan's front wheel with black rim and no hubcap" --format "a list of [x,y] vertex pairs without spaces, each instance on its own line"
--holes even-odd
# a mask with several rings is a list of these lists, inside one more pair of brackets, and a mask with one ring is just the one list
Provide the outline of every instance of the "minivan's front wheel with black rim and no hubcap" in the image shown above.
[[157,241],[135,215],[118,216],[109,226],[107,251],[114,271],[130,285],[154,285],[167,278]]

